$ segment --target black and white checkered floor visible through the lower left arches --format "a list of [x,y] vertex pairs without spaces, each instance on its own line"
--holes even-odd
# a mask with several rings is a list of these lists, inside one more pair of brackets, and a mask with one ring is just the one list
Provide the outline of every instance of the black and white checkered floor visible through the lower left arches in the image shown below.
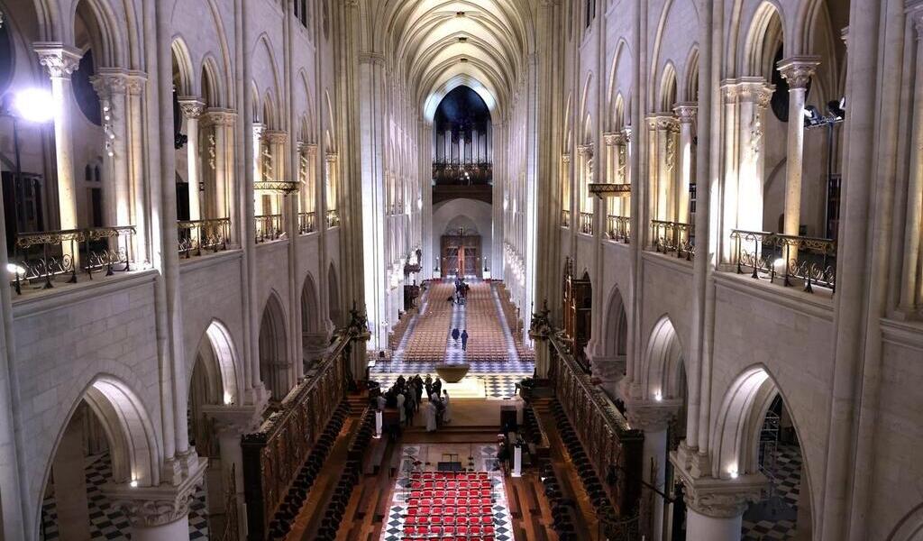
[[[112,461],[105,452],[87,460],[87,502],[90,506],[90,539],[92,541],[113,541],[130,539],[128,519],[113,509],[109,499],[102,494],[102,486],[112,477]],[[42,532],[40,539],[56,541],[60,537],[57,523],[57,505],[54,497],[42,502]],[[209,538],[208,511],[205,506],[205,490],[199,488],[189,509],[189,539]]]

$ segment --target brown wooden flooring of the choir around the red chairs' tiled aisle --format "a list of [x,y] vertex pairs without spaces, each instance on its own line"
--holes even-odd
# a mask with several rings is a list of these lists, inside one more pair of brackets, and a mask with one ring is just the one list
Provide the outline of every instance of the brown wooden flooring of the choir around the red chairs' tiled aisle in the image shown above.
[[[500,403],[496,401],[493,403],[478,403],[472,405],[472,407],[485,408],[492,404],[495,404],[493,407],[499,408]],[[465,403],[460,401],[456,403],[456,407],[462,409],[466,406]],[[576,509],[583,515],[574,521],[577,534],[581,539],[596,540],[598,539],[597,524],[593,517],[592,505],[582,491],[580,477],[569,463],[567,452],[558,437],[557,428],[553,418],[547,412],[546,405],[540,404],[538,409],[540,422],[544,424],[548,438],[551,439],[552,464],[561,483],[561,489],[565,497],[573,499]],[[542,411],[543,409],[544,411]],[[343,434],[347,433],[348,429],[344,427]],[[336,485],[342,471],[342,463],[345,462],[345,443],[343,443],[345,440],[348,440],[348,435],[341,435],[341,440],[337,441],[334,450],[330,454],[329,463],[325,464],[323,472],[318,476],[316,488],[319,489],[312,490],[312,494],[302,511],[306,517],[299,521],[300,528],[298,533],[297,535],[295,533],[290,535],[290,540],[311,539],[313,532],[317,531],[326,502],[330,498],[330,490]],[[387,442],[387,448],[381,462],[382,467],[378,474],[366,475],[359,485],[355,487],[352,499],[350,499],[349,506],[343,516],[337,539],[342,541],[379,541],[383,518],[390,505],[391,488],[396,482],[396,479],[390,476],[389,466],[392,459],[395,458],[395,453],[401,452],[404,443],[437,441],[479,443],[494,442],[496,440],[496,427],[449,426],[440,428],[438,432],[426,433],[420,427],[418,421],[417,426],[405,430],[400,439]],[[509,511],[513,517],[513,530],[516,540],[556,541],[557,535],[551,528],[551,509],[548,500],[545,498],[545,492],[537,472],[527,471],[522,477],[507,477],[506,481]]]

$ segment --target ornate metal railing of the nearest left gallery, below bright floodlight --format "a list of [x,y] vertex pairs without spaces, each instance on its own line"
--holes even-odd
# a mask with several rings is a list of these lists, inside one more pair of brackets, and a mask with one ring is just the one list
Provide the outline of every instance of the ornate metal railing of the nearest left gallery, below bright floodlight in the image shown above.
[[58,276],[77,283],[78,272],[92,280],[97,271],[106,276],[131,271],[134,234],[134,225],[17,234],[8,267],[10,282],[21,295],[23,285],[43,282],[42,289],[50,289]]

